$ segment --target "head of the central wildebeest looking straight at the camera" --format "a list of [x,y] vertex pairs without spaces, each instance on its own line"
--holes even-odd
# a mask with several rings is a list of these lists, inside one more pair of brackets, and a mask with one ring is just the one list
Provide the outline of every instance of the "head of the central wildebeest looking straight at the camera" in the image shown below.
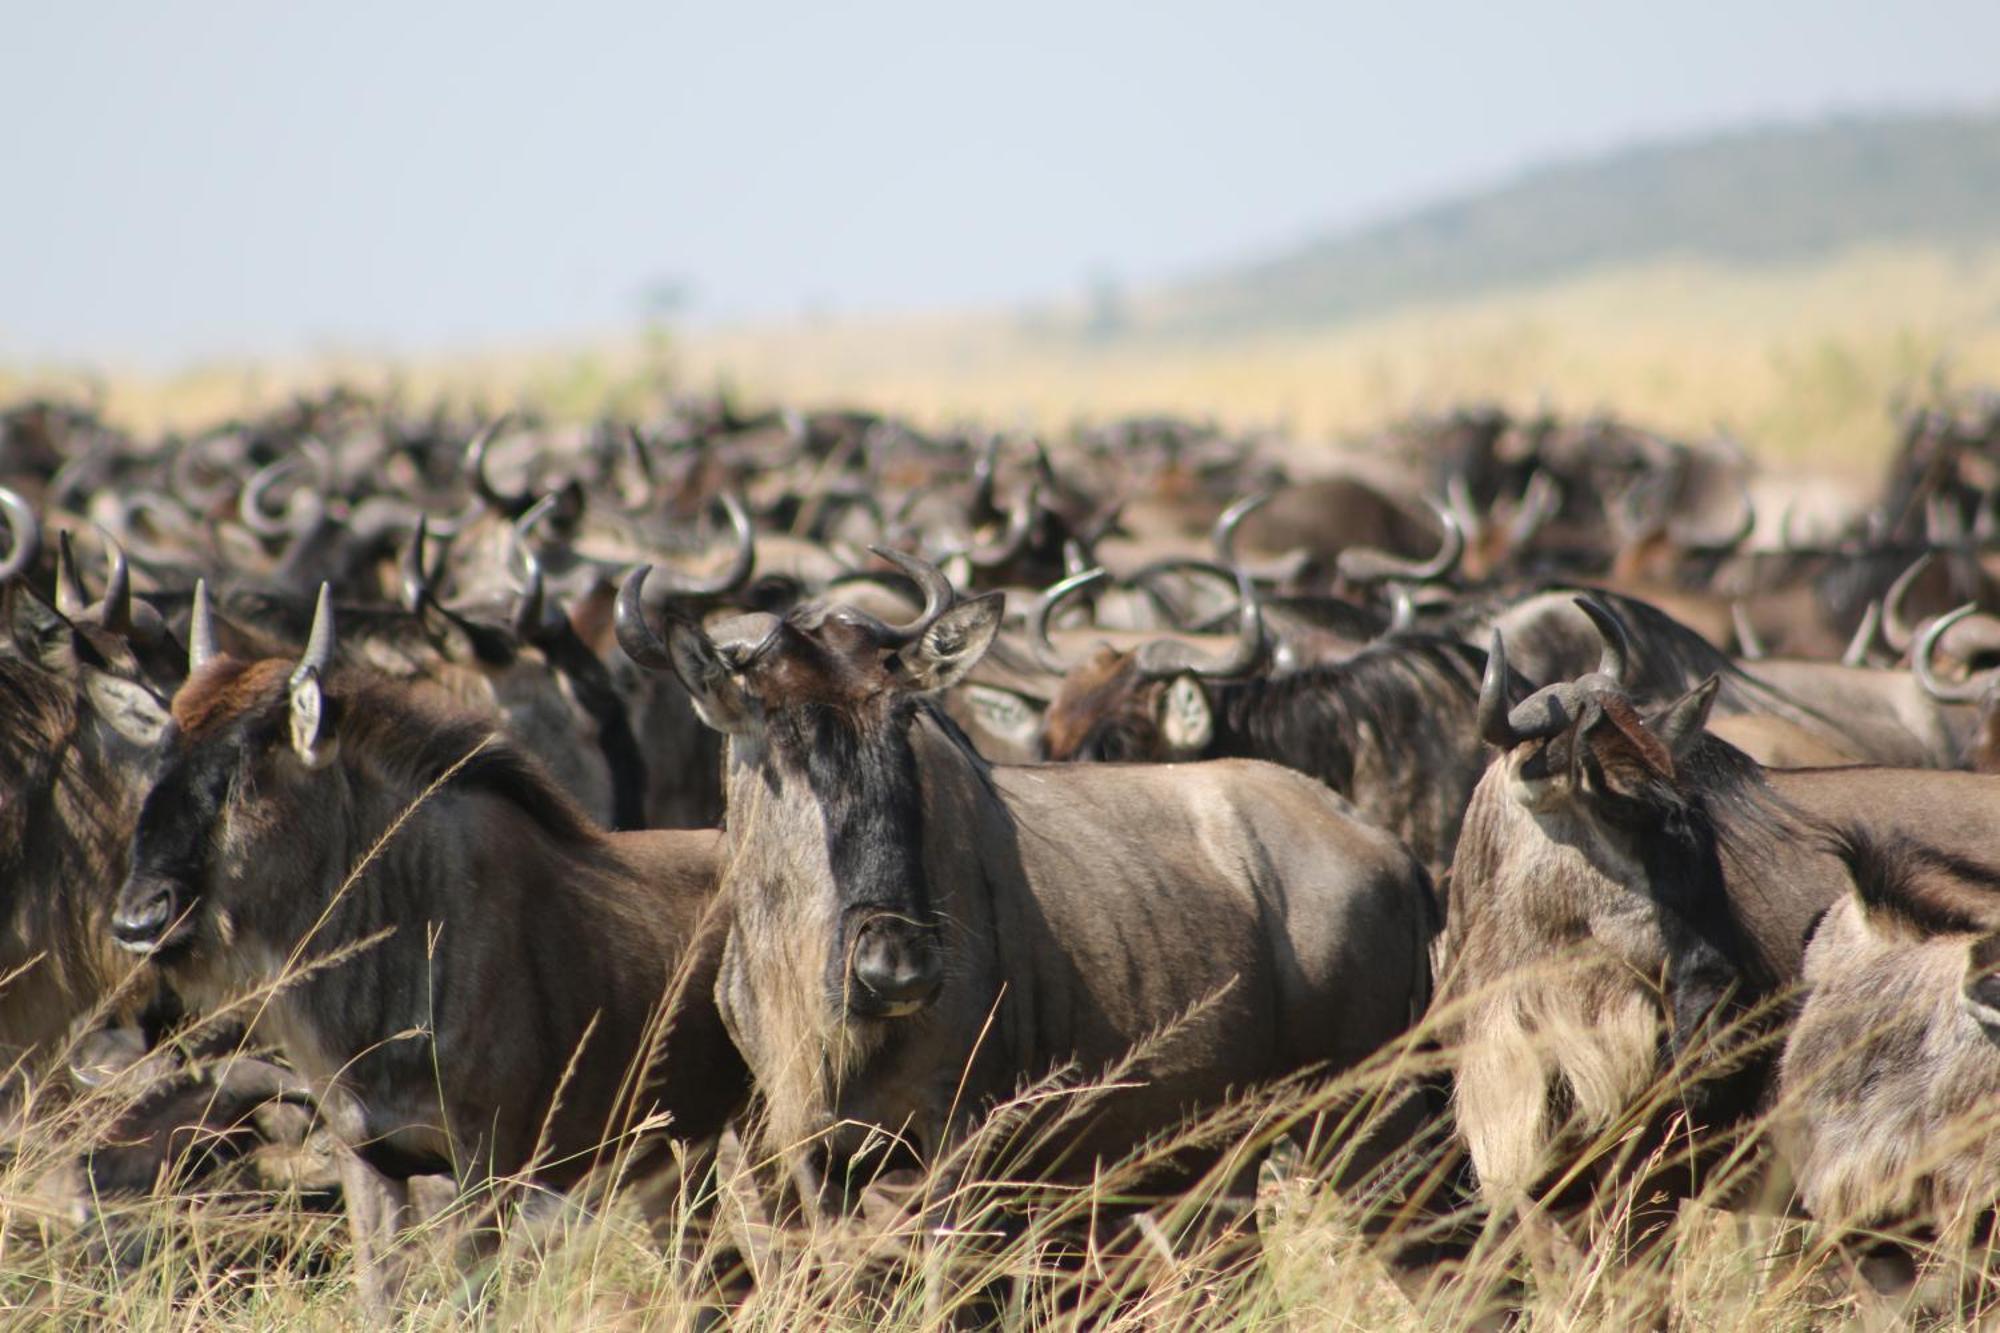
[[[958,683],[1000,626],[1000,594],[954,604],[936,566],[880,552],[924,592],[910,624],[850,604],[746,614],[710,636],[684,616],[662,640],[644,618],[634,570],[618,598],[618,642],[640,664],[672,669],[702,721],[730,741],[728,823],[784,825],[784,865],[746,871],[770,911],[810,951],[832,1015],[900,1019],[944,981],[940,923],[922,857],[922,791],[910,727],[924,697]],[[820,851],[824,847],[824,865]],[[738,903],[738,913],[758,913]],[[820,935],[824,945],[798,939]],[[824,949],[824,953],[820,953]],[[824,1019],[822,1019],[824,1021]]]

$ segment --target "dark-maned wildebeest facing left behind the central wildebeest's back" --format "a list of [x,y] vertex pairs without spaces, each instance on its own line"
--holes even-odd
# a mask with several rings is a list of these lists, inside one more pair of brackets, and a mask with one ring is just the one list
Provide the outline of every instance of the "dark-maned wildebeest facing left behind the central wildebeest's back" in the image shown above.
[[[1060,584],[1058,584],[1060,586]],[[1052,761],[1264,759],[1320,779],[1400,837],[1432,873],[1452,863],[1458,821],[1486,769],[1474,727],[1478,648],[1392,634],[1346,660],[1256,675],[1254,600],[1220,662],[1156,640],[1104,646],[1062,681],[1044,715]]]

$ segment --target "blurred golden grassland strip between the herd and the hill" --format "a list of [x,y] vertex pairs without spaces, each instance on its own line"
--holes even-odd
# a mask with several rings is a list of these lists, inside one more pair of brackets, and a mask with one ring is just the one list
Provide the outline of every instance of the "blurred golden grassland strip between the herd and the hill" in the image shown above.
[[1298,440],[1484,400],[1612,410],[1680,436],[1724,430],[1772,464],[1872,472],[1892,440],[1888,404],[1938,376],[2000,378],[2000,246],[1868,246],[1756,268],[1658,260],[1242,334],[1090,334],[1062,310],[828,318],[414,360],[328,352],[174,374],[12,366],[0,394],[96,392],[114,418],[150,428],[336,380],[558,416],[728,384],[752,400],[866,404],[928,422],[1174,412]]

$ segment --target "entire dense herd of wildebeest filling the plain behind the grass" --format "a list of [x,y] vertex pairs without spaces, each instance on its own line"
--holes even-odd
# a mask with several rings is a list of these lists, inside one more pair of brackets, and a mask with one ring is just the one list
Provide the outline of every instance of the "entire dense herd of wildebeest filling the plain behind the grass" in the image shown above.
[[1432,1289],[1482,1227],[1646,1263],[1734,1171],[1876,1291],[1992,1301],[2000,408],[1810,514],[1728,444],[1498,410],[1302,466],[28,402],[0,484],[14,1127],[164,1089],[88,1197],[314,1135],[388,1303],[418,1179],[664,1215],[748,1143],[774,1225],[832,1225],[1062,1069],[1118,1087],[1024,1177],[1402,1043],[1444,1073],[1346,1161],[1434,1145],[1392,1257]]

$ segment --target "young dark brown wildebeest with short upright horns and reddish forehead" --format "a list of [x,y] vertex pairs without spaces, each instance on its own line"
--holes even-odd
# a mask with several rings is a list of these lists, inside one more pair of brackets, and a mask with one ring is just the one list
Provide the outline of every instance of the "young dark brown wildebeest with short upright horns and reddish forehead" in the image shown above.
[[112,929],[200,1009],[294,975],[258,1029],[356,1109],[388,1181],[350,1173],[364,1265],[410,1175],[564,1189],[660,1111],[712,1141],[748,1079],[712,999],[716,835],[600,833],[490,719],[330,671],[324,588],[298,662],[210,656],[206,620]]

